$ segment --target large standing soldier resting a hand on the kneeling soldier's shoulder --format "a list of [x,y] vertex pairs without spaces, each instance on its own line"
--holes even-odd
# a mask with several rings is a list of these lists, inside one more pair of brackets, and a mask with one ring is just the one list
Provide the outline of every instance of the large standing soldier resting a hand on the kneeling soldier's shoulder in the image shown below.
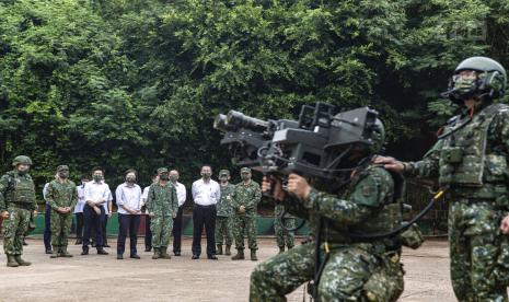
[[438,178],[449,204],[451,280],[460,301],[507,301],[509,284],[509,107],[494,103],[506,70],[486,57],[463,60],[444,96],[461,106],[421,161],[375,162],[409,177]]

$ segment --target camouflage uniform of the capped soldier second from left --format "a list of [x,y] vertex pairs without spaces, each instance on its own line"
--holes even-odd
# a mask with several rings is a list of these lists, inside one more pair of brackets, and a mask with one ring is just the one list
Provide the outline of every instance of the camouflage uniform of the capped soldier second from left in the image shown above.
[[[72,224],[72,211],[78,202],[78,191],[76,184],[69,179],[63,183],[53,181],[48,185],[46,200],[51,208],[51,245],[54,253],[59,249],[67,251],[69,241],[69,232]],[[58,208],[69,207],[71,210],[68,213],[59,213]]]

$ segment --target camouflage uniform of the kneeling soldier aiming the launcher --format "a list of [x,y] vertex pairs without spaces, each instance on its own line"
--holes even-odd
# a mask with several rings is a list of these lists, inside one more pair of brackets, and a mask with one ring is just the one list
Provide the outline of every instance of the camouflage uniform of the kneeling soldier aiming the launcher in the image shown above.
[[[391,174],[371,165],[355,176],[342,197],[313,188],[303,201],[291,197],[284,201],[290,212],[306,219],[313,232],[323,236],[321,255],[328,260],[317,286],[317,301],[396,301],[403,292],[398,241],[349,237],[350,232],[386,232],[401,224],[401,204],[394,200],[393,191]],[[315,253],[315,244],[306,243],[256,266],[250,300],[286,301],[287,293],[313,279]]]

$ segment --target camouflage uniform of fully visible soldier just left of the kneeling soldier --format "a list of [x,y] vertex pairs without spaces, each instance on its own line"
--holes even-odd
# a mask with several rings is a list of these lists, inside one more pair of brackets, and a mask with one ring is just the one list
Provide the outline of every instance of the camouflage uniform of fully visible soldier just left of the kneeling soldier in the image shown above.
[[[233,190],[232,207],[235,214],[232,219],[233,237],[235,239],[235,248],[239,251],[244,249],[244,232],[247,234],[250,249],[256,251],[256,213],[257,206],[262,199],[262,189],[254,181],[244,185],[240,183]],[[240,213],[239,208],[245,207],[245,212]]]

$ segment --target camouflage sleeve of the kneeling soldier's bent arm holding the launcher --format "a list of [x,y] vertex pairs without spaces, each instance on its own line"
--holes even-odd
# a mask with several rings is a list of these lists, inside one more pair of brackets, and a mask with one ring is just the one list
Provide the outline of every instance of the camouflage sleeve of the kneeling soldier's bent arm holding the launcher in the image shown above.
[[377,211],[387,197],[386,188],[394,187],[392,178],[387,178],[387,175],[389,173],[382,169],[371,170],[355,184],[348,200],[313,188],[303,206],[335,222],[357,224]]

